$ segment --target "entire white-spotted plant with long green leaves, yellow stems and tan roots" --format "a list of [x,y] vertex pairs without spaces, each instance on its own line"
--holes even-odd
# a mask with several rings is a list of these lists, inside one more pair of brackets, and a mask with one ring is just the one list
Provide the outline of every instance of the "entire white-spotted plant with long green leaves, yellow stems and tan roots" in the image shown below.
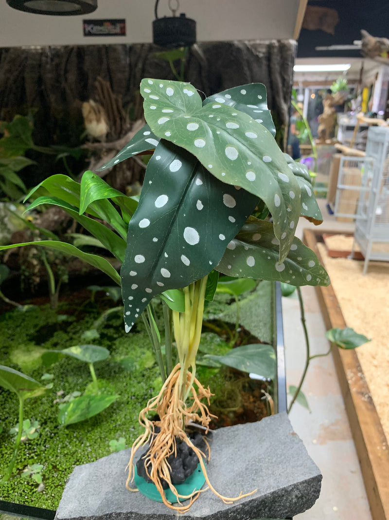
[[[178,444],[197,454],[207,484],[220,498],[235,500],[213,489],[204,450],[186,432],[189,423],[207,428],[210,422],[201,402],[210,391],[196,378],[196,354],[204,300],[212,300],[218,273],[294,285],[327,285],[329,279],[314,253],[294,236],[299,216],[318,224],[321,214],[307,168],[276,145],[263,85],[234,87],[202,101],[188,83],[145,79],[141,94],[147,125],[103,166],[154,148],[139,202],[87,172],[80,186],[65,176],[46,179],[35,192],[42,196],[30,208],[41,203],[62,206],[123,262],[119,280],[98,255],[59,241],[34,243],[71,252],[121,284],[126,331],[141,315],[146,320],[165,381],[140,414],[145,431],[133,445],[128,484],[134,455],[148,441],[142,458],[146,475],[169,508],[185,512],[199,491],[184,496],[172,482]],[[103,218],[113,230],[84,212]],[[178,351],[175,367],[171,341],[162,356],[149,305],[162,291],[169,306],[165,329],[171,337],[173,322]],[[150,420],[154,412],[159,417]],[[166,498],[166,485],[176,501],[190,499],[189,505],[173,505]]]

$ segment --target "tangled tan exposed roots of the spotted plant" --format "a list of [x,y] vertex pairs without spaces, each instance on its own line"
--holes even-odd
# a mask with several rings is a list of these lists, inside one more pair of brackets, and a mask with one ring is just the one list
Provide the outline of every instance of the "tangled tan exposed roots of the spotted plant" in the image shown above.
[[[130,487],[130,482],[134,478],[134,456],[136,451],[145,444],[149,444],[149,450],[144,457],[145,467],[148,476],[152,482],[156,485],[158,491],[161,494],[163,503],[168,508],[173,509],[179,513],[185,513],[189,510],[192,503],[199,497],[200,493],[205,491],[195,490],[191,495],[185,496],[178,493],[176,487],[171,482],[170,478],[170,466],[167,462],[168,457],[174,453],[177,454],[176,440],[184,441],[198,456],[201,469],[203,470],[205,481],[209,488],[226,504],[231,504],[236,500],[239,500],[248,495],[252,495],[256,489],[250,493],[242,494],[239,497],[227,498],[220,495],[218,491],[210,483],[209,477],[206,472],[206,467],[203,461],[205,454],[196,446],[194,446],[190,438],[185,433],[185,426],[190,422],[196,422],[206,427],[208,430],[211,418],[214,417],[210,414],[209,409],[206,405],[201,402],[202,398],[206,398],[208,405],[210,404],[209,399],[211,392],[209,388],[204,388],[201,383],[193,377],[190,372],[185,370],[186,381],[182,380],[182,371],[180,370],[179,363],[173,368],[169,378],[166,379],[163,384],[161,391],[158,396],[151,398],[147,406],[141,411],[139,415],[139,422],[144,426],[145,432],[140,435],[134,442],[131,449],[131,458],[128,464],[128,477],[126,482],[127,489],[131,491],[137,491]],[[192,386],[195,383],[196,389]],[[186,406],[182,396],[189,393],[188,400],[191,401],[189,406]],[[159,421],[150,421],[148,415],[158,414]],[[160,428],[160,431],[155,434],[155,426]],[[205,444],[208,451],[208,460],[210,459],[210,446],[207,440],[204,438]],[[178,506],[173,505],[166,499],[164,489],[162,488],[162,482],[168,483],[169,488],[177,497]],[[207,489],[207,488],[206,488]],[[182,500],[189,500],[189,503],[182,505]]]

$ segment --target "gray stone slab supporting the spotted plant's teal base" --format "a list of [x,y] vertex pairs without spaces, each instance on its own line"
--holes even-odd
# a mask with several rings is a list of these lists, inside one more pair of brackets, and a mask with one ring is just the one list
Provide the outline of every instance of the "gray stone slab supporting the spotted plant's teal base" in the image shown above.
[[[77,466],[56,520],[173,520],[175,511],[126,489],[130,450]],[[293,432],[286,413],[214,432],[207,473],[225,497],[257,488],[254,495],[225,504],[206,490],[188,513],[193,520],[286,518],[312,507],[322,475]]]

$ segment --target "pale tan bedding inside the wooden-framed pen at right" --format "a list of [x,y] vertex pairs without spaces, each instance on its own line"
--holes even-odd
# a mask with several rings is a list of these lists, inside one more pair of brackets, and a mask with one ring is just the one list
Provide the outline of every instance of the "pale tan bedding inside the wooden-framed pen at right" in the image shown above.
[[369,262],[364,276],[363,262],[330,258],[324,244],[317,246],[348,327],[372,340],[356,352],[389,439],[389,263]]

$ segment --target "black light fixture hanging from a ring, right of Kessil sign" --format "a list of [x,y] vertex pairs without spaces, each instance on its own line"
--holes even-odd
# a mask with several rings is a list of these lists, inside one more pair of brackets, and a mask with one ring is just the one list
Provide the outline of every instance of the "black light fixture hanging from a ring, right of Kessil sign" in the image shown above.
[[[175,1],[175,8],[172,2]],[[184,13],[176,16],[179,7],[178,0],[169,0],[169,9],[172,16],[158,18],[158,3],[156,0],[154,12],[155,20],[152,22],[152,41],[161,47],[189,47],[196,43],[196,21],[187,18]]]

